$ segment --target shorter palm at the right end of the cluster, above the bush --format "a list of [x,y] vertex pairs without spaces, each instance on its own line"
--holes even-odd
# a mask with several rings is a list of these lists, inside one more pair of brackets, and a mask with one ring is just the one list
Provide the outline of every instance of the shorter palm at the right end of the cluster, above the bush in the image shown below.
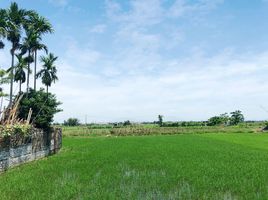
[[56,82],[58,80],[57,77],[57,68],[54,65],[55,61],[58,57],[55,57],[52,53],[48,54],[48,56],[41,56],[40,60],[43,63],[43,69],[41,69],[37,74],[36,77],[41,77],[42,83],[47,87],[47,94],[48,94],[48,87],[51,86],[52,82]]

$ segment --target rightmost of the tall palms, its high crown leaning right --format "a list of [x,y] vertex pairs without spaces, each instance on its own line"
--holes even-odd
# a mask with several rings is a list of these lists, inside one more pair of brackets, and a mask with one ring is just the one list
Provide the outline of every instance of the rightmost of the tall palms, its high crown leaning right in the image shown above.
[[41,35],[45,33],[53,33],[54,30],[52,28],[51,23],[44,17],[35,13],[31,15],[29,20],[29,29],[34,31],[38,36],[33,44],[33,54],[34,54],[34,90],[36,90],[36,68],[37,68],[37,51],[44,50],[46,54],[48,53],[47,47],[41,43]]

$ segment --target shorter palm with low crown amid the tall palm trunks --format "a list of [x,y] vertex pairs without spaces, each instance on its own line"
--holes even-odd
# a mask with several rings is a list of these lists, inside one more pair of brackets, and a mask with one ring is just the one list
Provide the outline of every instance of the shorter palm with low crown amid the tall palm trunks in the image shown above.
[[[20,87],[19,87],[19,92],[21,93],[21,85],[25,83],[26,81],[26,73],[24,70],[27,69],[27,58],[23,58],[21,54],[16,55],[16,58],[18,60],[18,63],[14,66],[14,81],[19,82]],[[9,68],[7,72],[12,70]]]

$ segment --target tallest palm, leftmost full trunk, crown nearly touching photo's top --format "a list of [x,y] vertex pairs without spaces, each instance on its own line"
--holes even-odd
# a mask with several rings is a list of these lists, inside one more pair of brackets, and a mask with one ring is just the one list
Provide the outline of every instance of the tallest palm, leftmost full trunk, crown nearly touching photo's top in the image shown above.
[[9,94],[9,105],[12,104],[12,96],[13,96],[13,80],[14,80],[14,58],[15,52],[19,48],[19,42],[21,38],[21,32],[23,24],[25,23],[25,19],[27,16],[31,15],[33,11],[27,11],[25,9],[20,9],[18,4],[12,2],[10,7],[5,10],[1,9],[0,13],[3,14],[3,20],[6,22],[5,32],[6,38],[11,42],[11,71],[10,71],[10,94]]

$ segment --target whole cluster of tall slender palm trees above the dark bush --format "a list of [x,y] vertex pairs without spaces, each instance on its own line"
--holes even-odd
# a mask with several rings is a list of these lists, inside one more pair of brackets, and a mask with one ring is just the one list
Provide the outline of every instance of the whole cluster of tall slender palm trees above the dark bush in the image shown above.
[[[10,84],[9,105],[12,105],[14,96],[14,82],[19,83],[20,93],[22,84],[26,82],[26,94],[28,94],[32,64],[34,64],[34,91],[36,91],[38,78],[41,78],[42,83],[46,86],[47,93],[51,84],[58,80],[55,66],[58,57],[50,53],[42,41],[44,35],[53,32],[51,23],[34,10],[19,8],[15,2],[12,2],[7,9],[0,9],[0,49],[5,48],[5,42],[9,42],[11,45],[11,66],[5,71]],[[37,71],[39,51],[43,51],[45,55],[40,56],[42,69]],[[2,77],[3,73],[4,70],[1,70]]]

